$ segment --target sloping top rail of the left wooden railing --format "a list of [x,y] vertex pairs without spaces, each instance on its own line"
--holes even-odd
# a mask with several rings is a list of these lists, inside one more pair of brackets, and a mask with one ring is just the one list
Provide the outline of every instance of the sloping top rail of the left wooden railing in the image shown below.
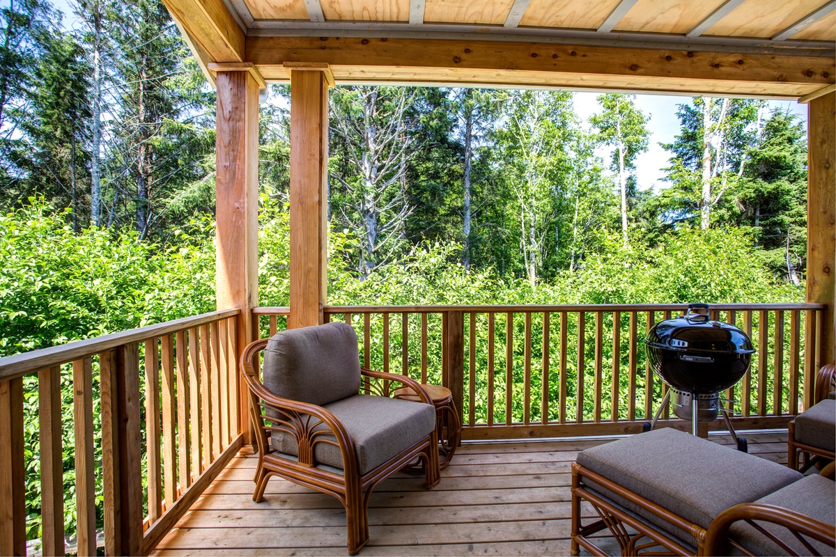
[[165,323],[148,325],[130,329],[129,331],[113,332],[101,337],[87,338],[81,341],[68,342],[58,346],[41,348],[30,352],[22,352],[13,356],[0,358],[0,381],[21,377],[31,372],[37,372],[46,367],[57,366],[66,362],[73,362],[84,357],[107,352],[130,342],[142,342],[150,338],[162,337],[172,332],[183,331],[237,316],[239,309],[211,311],[198,316],[183,317]]

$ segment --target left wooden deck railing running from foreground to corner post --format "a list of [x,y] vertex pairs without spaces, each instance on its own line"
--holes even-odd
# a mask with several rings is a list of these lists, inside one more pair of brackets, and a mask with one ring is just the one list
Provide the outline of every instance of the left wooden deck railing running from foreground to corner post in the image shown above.
[[[97,524],[106,554],[155,547],[242,445],[239,313],[0,358],[0,554],[26,553],[28,514],[40,514],[43,554],[63,555],[65,539],[96,554]],[[24,447],[24,423],[34,446]],[[27,458],[39,458],[39,478],[28,477]],[[24,495],[28,481],[39,482],[39,501]],[[65,482],[74,531],[64,529]]]

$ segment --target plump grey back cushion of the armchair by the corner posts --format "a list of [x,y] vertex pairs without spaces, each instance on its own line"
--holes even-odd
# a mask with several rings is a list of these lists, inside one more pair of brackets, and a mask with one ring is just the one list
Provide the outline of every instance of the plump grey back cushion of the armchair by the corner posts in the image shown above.
[[279,332],[264,349],[264,387],[273,394],[323,406],[359,392],[354,329],[341,322]]

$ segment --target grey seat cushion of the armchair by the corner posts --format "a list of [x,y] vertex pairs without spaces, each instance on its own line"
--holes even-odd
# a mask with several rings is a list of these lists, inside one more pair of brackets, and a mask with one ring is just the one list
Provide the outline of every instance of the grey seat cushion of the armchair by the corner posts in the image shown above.
[[[431,404],[357,394],[324,408],[343,423],[354,443],[359,473],[365,474],[426,438],[436,428],[436,409]],[[324,429],[319,424],[315,429]],[[319,438],[334,439],[333,435]],[[298,455],[296,438],[274,432],[273,448]],[[329,443],[314,445],[316,463],[344,468],[339,448]]]

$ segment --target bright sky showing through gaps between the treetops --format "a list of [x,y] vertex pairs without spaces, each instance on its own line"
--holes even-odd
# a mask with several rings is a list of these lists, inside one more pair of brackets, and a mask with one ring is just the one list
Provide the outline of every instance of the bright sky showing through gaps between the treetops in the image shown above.
[[[69,8],[67,0],[52,0],[55,8],[64,13],[64,28],[74,27],[74,14]],[[584,125],[589,127],[589,117],[600,110],[595,98],[599,93],[576,92],[574,94],[574,107]],[[640,190],[653,188],[658,191],[665,188],[665,173],[661,170],[668,165],[670,154],[660,147],[660,143],[672,143],[675,135],[679,132],[679,119],[676,118],[676,105],[688,103],[691,97],[664,95],[664,94],[639,94],[636,96],[636,104],[645,114],[650,115],[650,122],[647,127],[650,130],[649,149],[636,158],[636,180]],[[798,104],[796,101],[771,100],[772,108],[790,110],[797,114],[803,122],[804,129],[807,129],[807,105]],[[610,160],[612,147],[601,147],[596,154]]]

